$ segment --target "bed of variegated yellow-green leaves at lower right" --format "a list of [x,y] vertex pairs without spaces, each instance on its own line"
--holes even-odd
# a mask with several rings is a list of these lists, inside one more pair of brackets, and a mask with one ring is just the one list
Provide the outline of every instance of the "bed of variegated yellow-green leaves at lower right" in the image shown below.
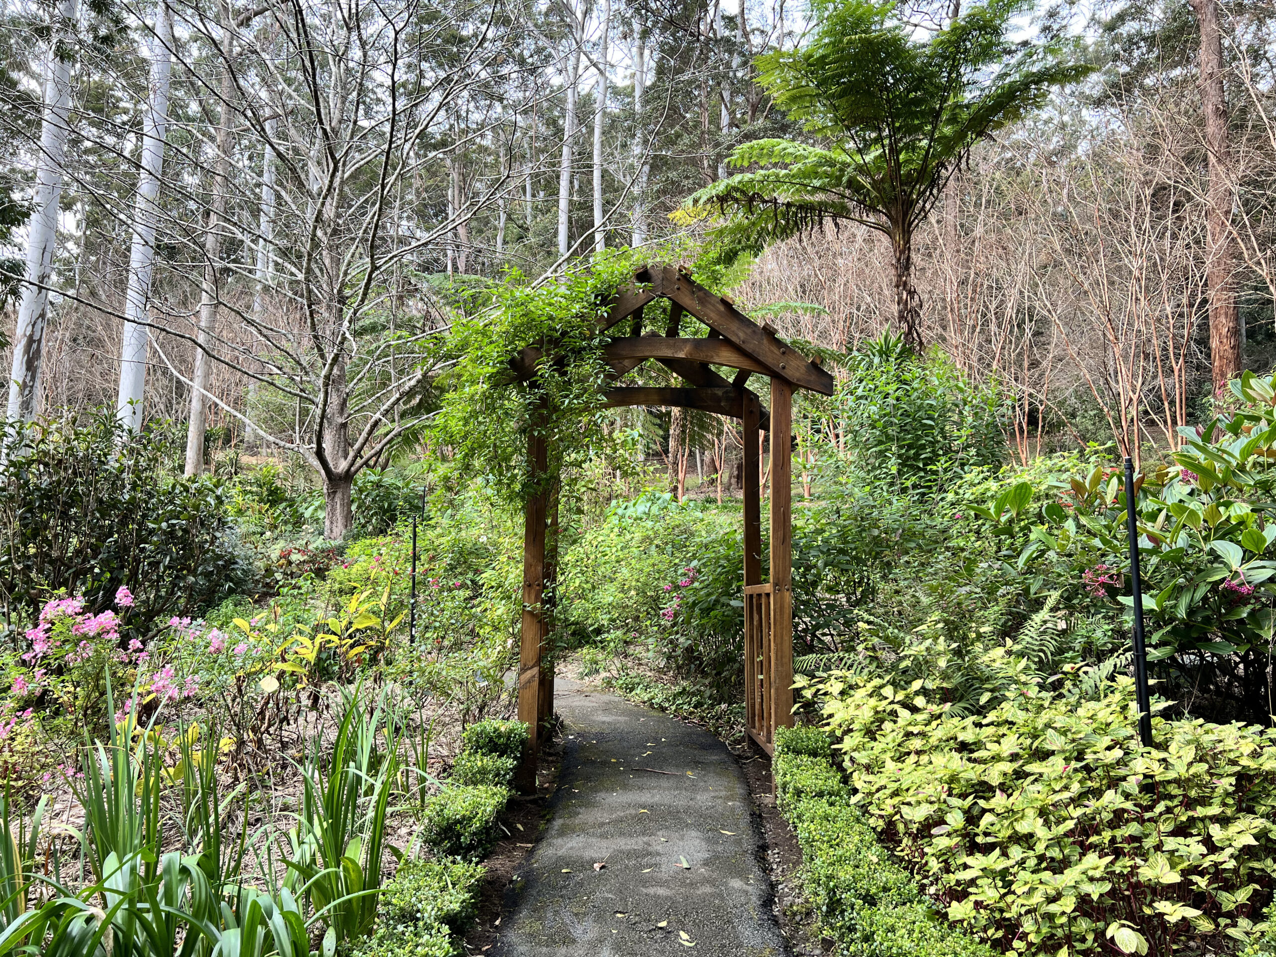
[[1087,699],[1079,671],[1060,678],[967,717],[921,681],[835,672],[804,694],[840,739],[847,800],[994,946],[1168,954],[1266,930],[1276,731],[1154,717],[1145,750],[1129,679]]

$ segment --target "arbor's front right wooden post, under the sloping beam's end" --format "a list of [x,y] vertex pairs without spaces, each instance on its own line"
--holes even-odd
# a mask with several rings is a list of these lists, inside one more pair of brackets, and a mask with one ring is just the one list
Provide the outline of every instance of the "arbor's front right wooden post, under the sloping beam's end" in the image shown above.
[[792,399],[794,387],[771,380],[771,715],[792,727]]

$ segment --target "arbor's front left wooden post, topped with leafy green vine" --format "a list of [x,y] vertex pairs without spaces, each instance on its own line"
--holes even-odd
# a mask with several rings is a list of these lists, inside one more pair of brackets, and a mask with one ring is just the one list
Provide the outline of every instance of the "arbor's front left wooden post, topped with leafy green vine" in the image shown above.
[[[533,426],[535,429],[535,426]],[[544,482],[549,467],[545,436],[532,431],[527,441],[527,466],[533,481]],[[518,648],[518,720],[528,727],[527,748],[516,775],[523,794],[536,791],[536,755],[541,730],[541,643],[544,642],[545,510],[549,490],[544,486],[527,499],[523,519],[523,620]]]

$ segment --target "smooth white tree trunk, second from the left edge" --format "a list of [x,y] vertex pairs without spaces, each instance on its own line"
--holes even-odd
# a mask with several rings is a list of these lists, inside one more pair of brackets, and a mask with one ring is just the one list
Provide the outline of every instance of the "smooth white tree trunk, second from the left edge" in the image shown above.
[[129,286],[124,299],[124,338],[120,343],[120,393],[115,415],[126,429],[142,427],[142,396],[147,383],[147,346],[151,334],[147,302],[156,258],[156,226],[160,208],[160,175],[163,143],[168,130],[168,73],[172,63],[172,11],[161,0],[151,42],[151,96],[142,121],[142,170],[133,207],[133,248],[129,253]]

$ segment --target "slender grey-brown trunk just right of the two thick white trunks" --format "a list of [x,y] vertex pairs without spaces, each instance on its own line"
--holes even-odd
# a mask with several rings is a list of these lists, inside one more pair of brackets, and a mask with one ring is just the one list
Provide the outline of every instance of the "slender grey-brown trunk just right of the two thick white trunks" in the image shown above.
[[222,84],[221,117],[217,121],[217,162],[213,167],[212,202],[208,207],[208,225],[204,232],[204,277],[199,291],[199,330],[197,333],[195,367],[190,376],[190,420],[186,424],[186,475],[204,471],[204,435],[208,429],[208,379],[217,330],[218,277],[222,259],[222,219],[226,217],[226,191],[231,175],[231,97],[235,85],[231,78],[230,15],[222,6]]

